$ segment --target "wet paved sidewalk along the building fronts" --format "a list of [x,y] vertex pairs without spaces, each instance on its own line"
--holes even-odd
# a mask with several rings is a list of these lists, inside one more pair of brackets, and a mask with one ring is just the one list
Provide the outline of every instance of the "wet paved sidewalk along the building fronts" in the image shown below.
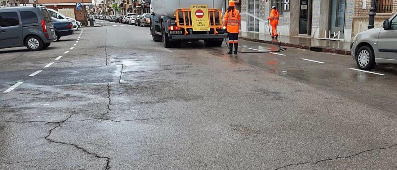
[[[240,39],[247,41],[273,44],[272,38],[268,34],[240,32],[239,36]],[[344,41],[321,40],[297,36],[279,36],[278,41],[281,42],[281,46],[303,48],[316,52],[350,55],[350,43]]]

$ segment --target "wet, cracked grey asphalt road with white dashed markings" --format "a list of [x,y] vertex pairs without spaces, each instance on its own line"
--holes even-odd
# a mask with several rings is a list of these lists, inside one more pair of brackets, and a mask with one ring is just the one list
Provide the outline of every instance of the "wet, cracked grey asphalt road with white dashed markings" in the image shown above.
[[164,48],[149,28],[96,22],[47,50],[0,49],[0,170],[397,167],[397,66]]

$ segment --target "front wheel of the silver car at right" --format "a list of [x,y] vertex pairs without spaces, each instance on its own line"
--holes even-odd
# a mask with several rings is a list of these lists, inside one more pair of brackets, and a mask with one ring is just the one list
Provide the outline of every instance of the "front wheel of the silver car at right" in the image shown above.
[[371,70],[376,65],[374,50],[369,46],[360,47],[356,53],[356,62],[361,70]]

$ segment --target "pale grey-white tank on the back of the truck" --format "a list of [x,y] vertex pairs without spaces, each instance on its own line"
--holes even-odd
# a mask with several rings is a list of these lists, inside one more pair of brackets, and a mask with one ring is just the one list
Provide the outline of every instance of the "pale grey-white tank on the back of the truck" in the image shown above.
[[151,0],[150,12],[157,17],[174,17],[175,10],[179,8],[190,8],[190,5],[208,5],[208,8],[222,10],[224,0]]

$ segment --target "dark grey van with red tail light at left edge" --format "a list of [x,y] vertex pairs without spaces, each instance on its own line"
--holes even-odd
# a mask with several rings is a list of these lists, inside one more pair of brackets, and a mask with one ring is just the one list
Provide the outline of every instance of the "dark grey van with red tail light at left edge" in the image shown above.
[[0,48],[26,46],[41,50],[56,41],[54,25],[44,6],[0,8]]

